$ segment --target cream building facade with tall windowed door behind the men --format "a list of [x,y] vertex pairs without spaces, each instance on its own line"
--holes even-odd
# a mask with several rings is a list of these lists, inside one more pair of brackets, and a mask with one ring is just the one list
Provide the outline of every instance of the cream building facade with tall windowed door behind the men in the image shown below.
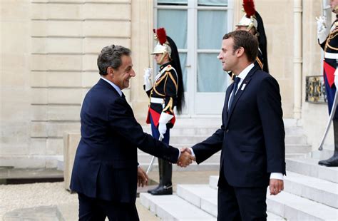
[[[305,81],[322,74],[314,18],[327,4],[255,0],[284,117],[297,119],[314,149],[327,123],[327,106],[305,102]],[[161,26],[180,52],[186,97],[180,117],[198,120],[222,112],[230,79],[216,56],[222,36],[243,15],[240,0],[1,0],[0,7],[0,167],[56,167],[63,134],[80,129],[81,102],[99,78],[96,58],[109,44],[133,51],[136,77],[124,93],[144,123],[143,69],[156,69],[152,30]]]

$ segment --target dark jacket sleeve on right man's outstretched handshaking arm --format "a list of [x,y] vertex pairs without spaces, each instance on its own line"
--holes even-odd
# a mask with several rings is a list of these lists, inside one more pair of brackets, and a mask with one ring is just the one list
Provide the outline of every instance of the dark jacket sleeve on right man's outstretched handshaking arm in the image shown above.
[[209,138],[201,143],[193,145],[196,163],[202,163],[222,149],[224,130],[224,126],[222,125],[221,128],[216,130]]

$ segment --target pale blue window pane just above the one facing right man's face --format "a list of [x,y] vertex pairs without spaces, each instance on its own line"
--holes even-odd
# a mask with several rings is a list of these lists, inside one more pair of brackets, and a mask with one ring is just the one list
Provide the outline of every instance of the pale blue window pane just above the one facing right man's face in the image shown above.
[[219,49],[227,32],[227,11],[198,11],[198,49]]

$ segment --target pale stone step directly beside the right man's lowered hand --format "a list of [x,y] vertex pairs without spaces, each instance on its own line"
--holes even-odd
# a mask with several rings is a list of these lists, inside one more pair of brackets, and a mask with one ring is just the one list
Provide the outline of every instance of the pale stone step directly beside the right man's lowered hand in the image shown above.
[[287,171],[285,192],[338,208],[338,184]]

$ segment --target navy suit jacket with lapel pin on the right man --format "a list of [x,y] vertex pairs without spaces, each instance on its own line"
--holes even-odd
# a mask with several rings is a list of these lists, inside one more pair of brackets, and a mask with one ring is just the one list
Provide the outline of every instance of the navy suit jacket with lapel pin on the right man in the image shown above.
[[235,187],[265,187],[270,173],[285,174],[280,88],[275,78],[255,66],[227,110],[232,87],[233,83],[227,88],[221,128],[193,146],[196,161],[201,163],[222,150],[220,178]]

